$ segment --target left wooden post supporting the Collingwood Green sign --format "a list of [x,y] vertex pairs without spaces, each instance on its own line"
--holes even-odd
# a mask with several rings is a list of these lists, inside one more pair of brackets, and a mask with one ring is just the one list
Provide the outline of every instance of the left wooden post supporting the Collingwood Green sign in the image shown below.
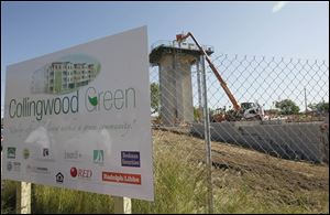
[[18,182],[16,214],[31,214],[31,183]]

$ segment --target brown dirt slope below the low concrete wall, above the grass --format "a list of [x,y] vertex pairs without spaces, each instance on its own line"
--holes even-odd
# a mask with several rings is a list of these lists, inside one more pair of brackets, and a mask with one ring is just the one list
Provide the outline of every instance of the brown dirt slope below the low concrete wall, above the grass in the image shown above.
[[[153,130],[154,143],[173,150],[191,152],[191,162],[205,162],[205,141],[185,132]],[[279,196],[279,202],[299,204],[297,196],[326,195],[329,198],[329,166],[285,160],[255,150],[212,141],[213,184],[223,187],[233,181],[244,181],[264,198]],[[223,176],[226,175],[226,180]],[[296,201],[296,203],[295,203]],[[297,202],[298,201],[298,202]],[[310,206],[319,204],[309,197]]]

